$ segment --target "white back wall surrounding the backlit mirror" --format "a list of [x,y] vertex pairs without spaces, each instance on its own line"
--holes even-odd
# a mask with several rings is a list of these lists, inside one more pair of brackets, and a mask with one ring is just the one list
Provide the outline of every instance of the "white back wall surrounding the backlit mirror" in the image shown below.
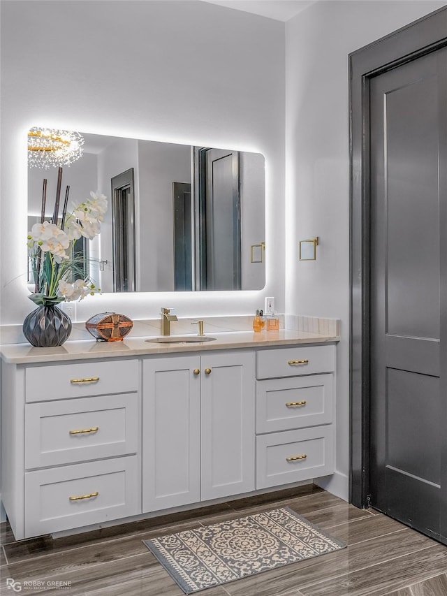
[[163,304],[179,317],[251,313],[265,295],[284,310],[284,23],[194,0],[0,8],[1,323],[21,324],[32,306],[26,136],[39,125],[265,155],[264,291],[106,294],[78,303],[78,320],[156,317]]

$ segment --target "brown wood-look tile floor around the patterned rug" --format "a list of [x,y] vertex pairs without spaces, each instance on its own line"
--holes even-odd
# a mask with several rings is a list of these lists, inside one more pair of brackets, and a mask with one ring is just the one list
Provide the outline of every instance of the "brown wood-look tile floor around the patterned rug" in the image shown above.
[[[11,578],[21,583],[24,595],[182,596],[143,539],[284,506],[342,540],[347,548],[200,594],[447,596],[446,546],[372,509],[356,509],[313,485],[59,539],[45,536],[16,542],[8,523],[2,523],[0,593],[14,593],[6,583]],[[30,587],[30,582],[38,581],[42,583]],[[63,585],[68,587],[53,588],[51,582],[66,582]]]

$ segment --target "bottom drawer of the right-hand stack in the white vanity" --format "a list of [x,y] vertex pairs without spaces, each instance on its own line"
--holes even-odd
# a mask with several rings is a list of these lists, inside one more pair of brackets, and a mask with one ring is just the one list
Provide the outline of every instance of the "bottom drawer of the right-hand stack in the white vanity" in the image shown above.
[[333,467],[331,425],[256,437],[257,489],[326,476]]

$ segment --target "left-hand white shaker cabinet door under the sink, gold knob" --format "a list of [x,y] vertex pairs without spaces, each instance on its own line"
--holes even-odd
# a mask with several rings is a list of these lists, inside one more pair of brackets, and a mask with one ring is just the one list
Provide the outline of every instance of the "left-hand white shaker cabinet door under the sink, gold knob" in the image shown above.
[[200,501],[199,356],[143,363],[142,510]]

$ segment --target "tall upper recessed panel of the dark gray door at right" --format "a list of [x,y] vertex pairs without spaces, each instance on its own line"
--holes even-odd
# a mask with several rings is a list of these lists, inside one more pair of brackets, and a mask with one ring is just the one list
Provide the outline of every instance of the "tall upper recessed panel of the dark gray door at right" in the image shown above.
[[387,328],[439,338],[437,74],[434,57],[420,61],[372,84],[384,100]]

